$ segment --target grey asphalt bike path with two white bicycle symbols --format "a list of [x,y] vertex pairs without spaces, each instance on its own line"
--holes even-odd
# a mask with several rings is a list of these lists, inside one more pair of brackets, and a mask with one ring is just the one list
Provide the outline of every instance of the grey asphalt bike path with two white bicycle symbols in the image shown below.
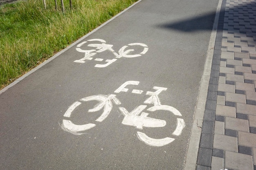
[[141,0],[2,91],[0,169],[183,169],[217,5]]

